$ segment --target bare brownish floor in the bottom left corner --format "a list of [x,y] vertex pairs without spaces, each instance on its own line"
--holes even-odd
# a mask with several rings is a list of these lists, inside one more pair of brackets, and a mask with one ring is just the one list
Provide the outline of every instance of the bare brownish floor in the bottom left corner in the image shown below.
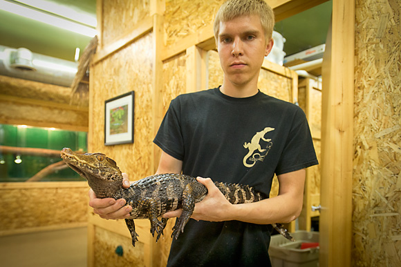
[[86,236],[84,227],[0,237],[0,266],[84,267]]

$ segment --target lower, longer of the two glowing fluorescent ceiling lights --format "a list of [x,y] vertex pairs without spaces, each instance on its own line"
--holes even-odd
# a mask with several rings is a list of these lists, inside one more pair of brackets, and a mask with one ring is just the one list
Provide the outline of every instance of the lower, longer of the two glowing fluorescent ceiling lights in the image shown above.
[[59,17],[55,17],[44,12],[39,12],[31,8],[26,8],[25,6],[19,6],[18,4],[10,3],[8,1],[0,0],[0,9],[7,12],[12,12],[13,14],[17,14],[22,17],[34,19],[35,21],[50,24],[64,30],[86,35],[88,37],[94,37],[97,34],[95,29],[84,26],[80,23],[68,21],[67,19],[61,19]]

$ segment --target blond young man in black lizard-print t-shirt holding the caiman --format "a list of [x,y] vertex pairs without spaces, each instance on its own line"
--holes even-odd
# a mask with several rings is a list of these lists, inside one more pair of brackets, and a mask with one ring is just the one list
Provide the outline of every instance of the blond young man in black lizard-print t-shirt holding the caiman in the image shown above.
[[[305,168],[317,164],[306,117],[257,88],[273,26],[263,0],[225,2],[214,22],[223,85],[180,95],[162,121],[154,140],[162,149],[157,172],[198,176],[208,190],[173,240],[168,266],[270,266],[269,224],[290,222],[301,212]],[[274,173],[279,195],[252,204],[230,204],[212,181],[248,184],[268,197]],[[91,192],[90,205],[104,218],[126,217],[131,207],[124,204]]]

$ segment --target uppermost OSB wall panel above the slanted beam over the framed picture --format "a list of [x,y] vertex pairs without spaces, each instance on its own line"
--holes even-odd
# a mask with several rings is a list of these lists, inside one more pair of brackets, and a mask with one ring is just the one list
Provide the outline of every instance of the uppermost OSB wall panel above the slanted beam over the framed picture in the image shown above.
[[149,0],[102,1],[102,44],[118,40],[149,16]]

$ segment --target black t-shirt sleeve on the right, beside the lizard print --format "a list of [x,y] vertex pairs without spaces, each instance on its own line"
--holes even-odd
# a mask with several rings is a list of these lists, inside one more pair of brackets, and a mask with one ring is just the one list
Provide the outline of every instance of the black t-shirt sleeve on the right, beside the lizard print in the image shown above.
[[275,172],[281,175],[316,164],[319,162],[313,147],[308,121],[304,111],[298,108]]

